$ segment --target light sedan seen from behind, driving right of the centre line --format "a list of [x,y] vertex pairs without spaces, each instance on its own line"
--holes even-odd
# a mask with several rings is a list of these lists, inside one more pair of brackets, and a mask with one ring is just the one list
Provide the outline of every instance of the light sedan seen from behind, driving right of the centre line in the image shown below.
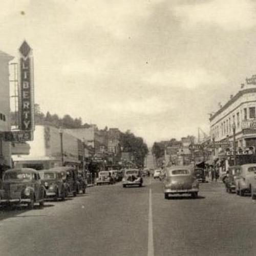
[[194,174],[193,166],[174,166],[166,169],[164,180],[164,198],[169,195],[190,194],[197,198],[199,191],[199,182]]

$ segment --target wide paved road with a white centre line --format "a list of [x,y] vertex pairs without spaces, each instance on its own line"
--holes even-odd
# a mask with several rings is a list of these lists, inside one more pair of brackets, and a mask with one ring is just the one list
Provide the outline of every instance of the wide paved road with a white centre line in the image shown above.
[[142,188],[92,187],[44,209],[2,210],[0,255],[255,255],[256,202],[221,183],[200,189],[199,199],[164,200],[162,182],[146,179]]

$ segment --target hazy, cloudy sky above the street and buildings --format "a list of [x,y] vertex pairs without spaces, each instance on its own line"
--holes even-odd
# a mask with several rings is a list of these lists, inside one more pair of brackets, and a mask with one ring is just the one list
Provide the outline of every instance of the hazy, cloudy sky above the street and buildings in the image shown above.
[[251,0],[1,0],[0,50],[33,48],[41,111],[148,145],[209,132],[256,69]]

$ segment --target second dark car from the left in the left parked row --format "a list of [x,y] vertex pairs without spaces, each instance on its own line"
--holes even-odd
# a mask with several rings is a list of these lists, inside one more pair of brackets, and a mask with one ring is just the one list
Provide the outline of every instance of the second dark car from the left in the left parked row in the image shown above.
[[58,170],[39,170],[42,184],[46,189],[46,198],[57,201],[59,198],[65,200],[66,191],[62,175]]

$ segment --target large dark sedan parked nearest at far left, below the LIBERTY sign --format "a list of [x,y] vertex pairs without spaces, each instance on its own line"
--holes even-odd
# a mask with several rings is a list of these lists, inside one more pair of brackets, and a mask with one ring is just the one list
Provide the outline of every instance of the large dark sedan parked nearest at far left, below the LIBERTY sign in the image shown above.
[[37,170],[32,168],[9,169],[3,176],[3,187],[0,190],[0,204],[28,204],[30,209],[34,203],[44,206],[45,187]]

